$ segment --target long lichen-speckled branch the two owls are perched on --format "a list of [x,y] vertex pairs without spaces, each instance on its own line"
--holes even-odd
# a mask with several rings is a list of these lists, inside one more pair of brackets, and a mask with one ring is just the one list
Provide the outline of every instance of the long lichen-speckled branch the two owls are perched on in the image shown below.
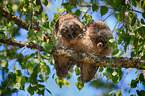
[[[44,51],[43,47],[40,45],[36,45],[34,43],[17,42],[17,41],[13,41],[10,38],[8,38],[6,40],[0,39],[0,42],[4,43],[4,44],[9,44],[9,45],[15,45],[15,46],[18,46],[20,48],[26,46],[27,48],[30,48],[30,49],[37,49],[39,51]],[[145,66],[145,60],[141,60],[141,59],[126,58],[126,57],[108,58],[108,57],[95,56],[92,54],[76,52],[73,50],[66,50],[64,48],[55,48],[55,49],[49,51],[48,53],[52,54],[52,55],[64,56],[66,58],[71,58],[71,59],[77,60],[79,62],[85,62],[88,64],[96,64],[98,66],[103,66],[103,67],[106,67],[110,62],[112,62],[112,67],[120,66],[122,68],[143,69],[143,68],[139,67],[139,64],[142,64],[143,66]]]

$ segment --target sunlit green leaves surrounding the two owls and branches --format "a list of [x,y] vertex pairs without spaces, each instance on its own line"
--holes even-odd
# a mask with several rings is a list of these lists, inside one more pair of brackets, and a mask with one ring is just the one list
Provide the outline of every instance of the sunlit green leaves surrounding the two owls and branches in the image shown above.
[[[121,57],[128,50],[129,45],[132,46],[131,57],[141,58],[145,60],[145,1],[144,0],[67,0],[62,2],[62,8],[57,8],[57,14],[54,14],[54,18],[50,20],[46,13],[40,11],[41,4],[36,4],[39,0],[1,0],[0,9],[4,9],[6,12],[16,14],[23,19],[26,25],[29,25],[27,29],[27,37],[25,41],[33,42],[43,46],[45,52],[33,50],[33,53],[25,55],[22,53],[27,48],[18,48],[17,46],[11,46],[7,44],[1,44],[0,48],[0,70],[2,75],[2,82],[0,85],[0,94],[2,96],[11,95],[18,90],[25,90],[26,84],[28,85],[27,91],[33,95],[37,93],[44,95],[46,90],[50,94],[51,91],[43,85],[43,82],[47,82],[50,78],[50,65],[52,63],[52,55],[47,52],[51,50],[49,39],[45,40],[45,35],[51,36],[53,44],[56,45],[54,36],[52,35],[53,26],[56,20],[66,13],[74,14],[81,17],[83,25],[92,21],[92,13],[100,12],[101,17],[113,15],[117,24],[115,26],[115,32],[118,36],[116,39],[110,38],[109,46],[113,47],[112,53],[115,57]],[[41,0],[44,6],[48,6],[50,1]],[[104,3],[104,4],[101,4]],[[136,10],[140,8],[140,10]],[[112,12],[112,13],[111,13]],[[108,15],[109,14],[109,15]],[[141,16],[139,18],[139,16]],[[6,39],[11,38],[15,40],[16,37],[20,37],[21,28],[15,24],[15,21],[9,20],[11,18],[4,18],[0,13],[0,38]],[[23,23],[23,22],[22,22]],[[39,26],[38,26],[39,25]],[[34,29],[32,26],[37,28]],[[119,51],[118,45],[124,47],[123,51]],[[9,69],[10,62],[14,61],[13,71]],[[49,62],[48,65],[46,62]],[[20,67],[18,67],[20,66]],[[141,65],[141,67],[145,67]],[[111,80],[113,84],[119,83],[123,77],[121,68],[111,68],[111,63],[106,68],[100,67],[99,72],[103,72],[101,76],[106,77],[107,80]],[[25,73],[25,74],[24,74]],[[80,75],[78,68],[75,69],[77,76]],[[71,74],[68,75],[67,79],[71,78]],[[66,79],[54,78],[56,83],[61,88],[67,86],[69,88],[69,81]],[[96,87],[95,81],[92,82],[92,86]],[[139,83],[145,86],[145,80],[143,73],[138,74],[138,77],[130,82],[130,90],[136,88]],[[103,86],[103,85],[100,85]],[[99,86],[99,87],[100,87]],[[113,86],[113,85],[111,85]],[[84,84],[76,82],[76,87],[81,90]],[[106,86],[107,87],[107,86]],[[98,86],[96,87],[98,88]],[[113,87],[111,87],[112,89]],[[130,92],[129,90],[129,92]],[[111,91],[111,90],[110,90]],[[136,90],[139,96],[145,93],[144,90]],[[110,94],[113,96],[122,96],[121,90],[112,91]]]

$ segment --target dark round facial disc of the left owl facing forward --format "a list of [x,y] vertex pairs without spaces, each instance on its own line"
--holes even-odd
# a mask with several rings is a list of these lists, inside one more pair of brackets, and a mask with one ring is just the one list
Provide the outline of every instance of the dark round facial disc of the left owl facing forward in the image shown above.
[[78,20],[65,20],[60,26],[62,37],[67,40],[78,39],[83,33],[83,25]]

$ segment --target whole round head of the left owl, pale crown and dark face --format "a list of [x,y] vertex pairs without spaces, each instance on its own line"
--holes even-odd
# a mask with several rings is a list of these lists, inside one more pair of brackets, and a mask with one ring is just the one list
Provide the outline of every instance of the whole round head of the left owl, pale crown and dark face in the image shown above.
[[59,18],[54,27],[56,34],[59,32],[67,41],[78,39],[83,34],[83,24],[77,16],[71,14]]

